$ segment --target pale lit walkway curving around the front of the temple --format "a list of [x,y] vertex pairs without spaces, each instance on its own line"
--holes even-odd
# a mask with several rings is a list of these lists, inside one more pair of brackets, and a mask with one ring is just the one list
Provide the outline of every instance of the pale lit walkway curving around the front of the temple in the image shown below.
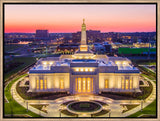
[[[23,78],[16,81],[11,87],[11,91],[13,91],[11,93],[11,94],[13,94],[13,98],[23,107],[27,108],[27,105],[28,105],[28,109],[30,111],[32,111],[36,114],[39,114],[41,116],[44,116],[44,117],[60,117],[59,109],[63,108],[60,105],[64,102],[71,101],[71,100],[99,100],[102,102],[106,102],[107,104],[109,104],[108,107],[111,109],[111,112],[110,112],[111,117],[126,117],[126,116],[129,116],[129,115],[141,110],[141,105],[139,105],[130,111],[122,113],[123,107],[120,106],[120,104],[135,104],[135,103],[141,104],[141,100],[112,100],[107,97],[94,96],[94,95],[67,96],[67,97],[58,98],[56,100],[24,100],[23,98],[21,98],[19,96],[19,94],[16,91],[16,85],[22,79]],[[156,84],[152,80],[149,80],[149,79],[147,79],[147,80],[150,81],[151,84],[153,85],[153,91],[152,91],[151,95],[144,101],[143,108],[148,106],[150,103],[152,103],[156,99]],[[44,113],[43,111],[40,111],[40,110],[30,106],[30,104],[49,104],[49,106],[47,108],[48,113]],[[109,116],[109,114],[104,115],[104,117],[108,117],[108,116]],[[67,117],[67,116],[61,113],[61,117]]]

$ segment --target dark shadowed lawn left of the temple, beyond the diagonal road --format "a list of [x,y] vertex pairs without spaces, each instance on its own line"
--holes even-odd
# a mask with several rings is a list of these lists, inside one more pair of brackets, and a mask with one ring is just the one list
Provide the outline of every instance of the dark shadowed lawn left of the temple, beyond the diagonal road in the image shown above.
[[[12,62],[20,62],[23,63],[19,65],[18,67],[11,69],[9,72],[4,74],[4,79],[6,80],[9,76],[17,73],[18,71],[22,70],[23,68],[27,67],[28,65],[31,65],[36,62],[35,57],[15,57]],[[9,63],[6,63],[6,65]]]

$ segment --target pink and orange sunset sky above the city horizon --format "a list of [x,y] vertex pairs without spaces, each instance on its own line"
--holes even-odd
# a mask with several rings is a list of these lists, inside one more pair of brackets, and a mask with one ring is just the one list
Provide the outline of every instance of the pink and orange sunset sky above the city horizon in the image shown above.
[[5,33],[77,32],[83,18],[87,30],[156,31],[155,4],[5,4]]

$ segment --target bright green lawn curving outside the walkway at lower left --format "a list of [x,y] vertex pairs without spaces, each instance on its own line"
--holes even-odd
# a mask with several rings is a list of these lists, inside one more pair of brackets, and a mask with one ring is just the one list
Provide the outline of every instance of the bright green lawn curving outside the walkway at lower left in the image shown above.
[[27,74],[24,74],[22,76],[19,76],[18,78],[12,80],[7,87],[4,90],[4,94],[7,97],[9,103],[4,103],[4,115],[5,114],[28,114],[32,117],[41,117],[31,111],[27,112],[27,109],[22,107],[20,104],[18,104],[14,99],[12,99],[12,95],[10,93],[11,86],[14,82],[16,82],[18,79],[27,76]]

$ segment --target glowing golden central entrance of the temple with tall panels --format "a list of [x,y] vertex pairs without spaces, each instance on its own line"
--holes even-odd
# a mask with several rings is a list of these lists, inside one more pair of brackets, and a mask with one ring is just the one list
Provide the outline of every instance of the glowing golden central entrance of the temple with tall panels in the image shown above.
[[92,93],[93,92],[93,78],[81,78],[75,79],[75,91],[76,93]]

